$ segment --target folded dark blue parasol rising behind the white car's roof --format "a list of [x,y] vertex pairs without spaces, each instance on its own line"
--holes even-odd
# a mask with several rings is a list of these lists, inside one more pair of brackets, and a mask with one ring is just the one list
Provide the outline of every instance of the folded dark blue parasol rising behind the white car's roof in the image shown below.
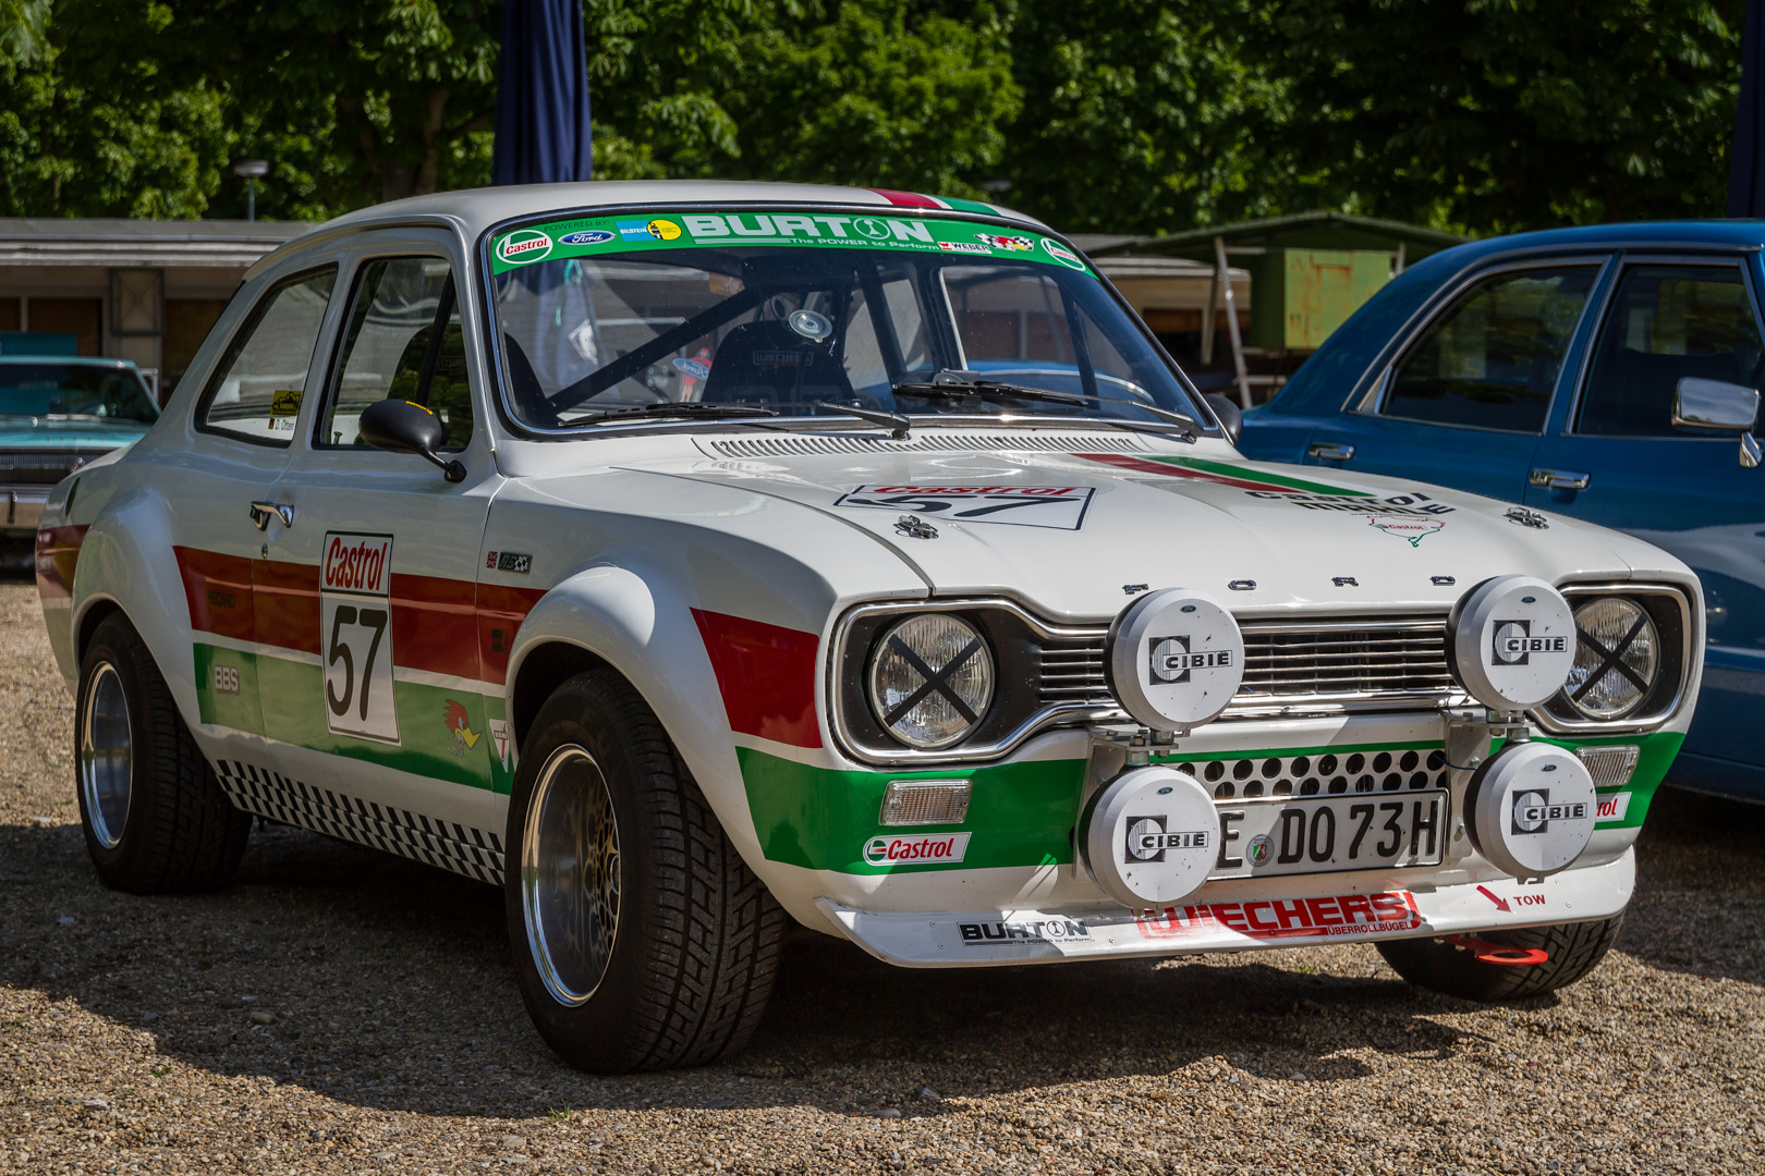
[[590,143],[581,0],[503,0],[491,183],[588,180]]

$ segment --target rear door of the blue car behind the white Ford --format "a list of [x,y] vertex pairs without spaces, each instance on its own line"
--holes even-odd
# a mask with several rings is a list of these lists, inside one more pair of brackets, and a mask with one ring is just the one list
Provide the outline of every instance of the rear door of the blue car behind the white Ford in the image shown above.
[[1599,266],[1509,264],[1468,282],[1359,406],[1313,430],[1306,464],[1520,501]]

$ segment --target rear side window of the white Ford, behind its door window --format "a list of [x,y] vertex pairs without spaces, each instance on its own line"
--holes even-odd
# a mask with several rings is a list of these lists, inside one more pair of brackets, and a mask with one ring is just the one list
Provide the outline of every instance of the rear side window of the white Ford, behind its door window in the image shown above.
[[335,284],[335,268],[302,273],[272,286],[258,300],[203,390],[198,428],[256,444],[293,441]]

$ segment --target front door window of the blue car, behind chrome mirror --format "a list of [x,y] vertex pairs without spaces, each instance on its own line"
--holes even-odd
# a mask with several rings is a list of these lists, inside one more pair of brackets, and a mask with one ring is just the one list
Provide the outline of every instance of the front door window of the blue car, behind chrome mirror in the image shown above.
[[1601,326],[1576,432],[1709,437],[1707,428],[1673,425],[1679,381],[1758,388],[1761,356],[1739,266],[1629,266]]

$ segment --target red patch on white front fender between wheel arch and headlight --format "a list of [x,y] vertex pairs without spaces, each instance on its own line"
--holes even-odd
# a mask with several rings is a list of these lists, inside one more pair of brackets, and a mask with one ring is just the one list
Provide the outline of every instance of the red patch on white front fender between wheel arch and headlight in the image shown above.
[[814,633],[692,610],[717,672],[729,730],[794,748],[819,748]]

